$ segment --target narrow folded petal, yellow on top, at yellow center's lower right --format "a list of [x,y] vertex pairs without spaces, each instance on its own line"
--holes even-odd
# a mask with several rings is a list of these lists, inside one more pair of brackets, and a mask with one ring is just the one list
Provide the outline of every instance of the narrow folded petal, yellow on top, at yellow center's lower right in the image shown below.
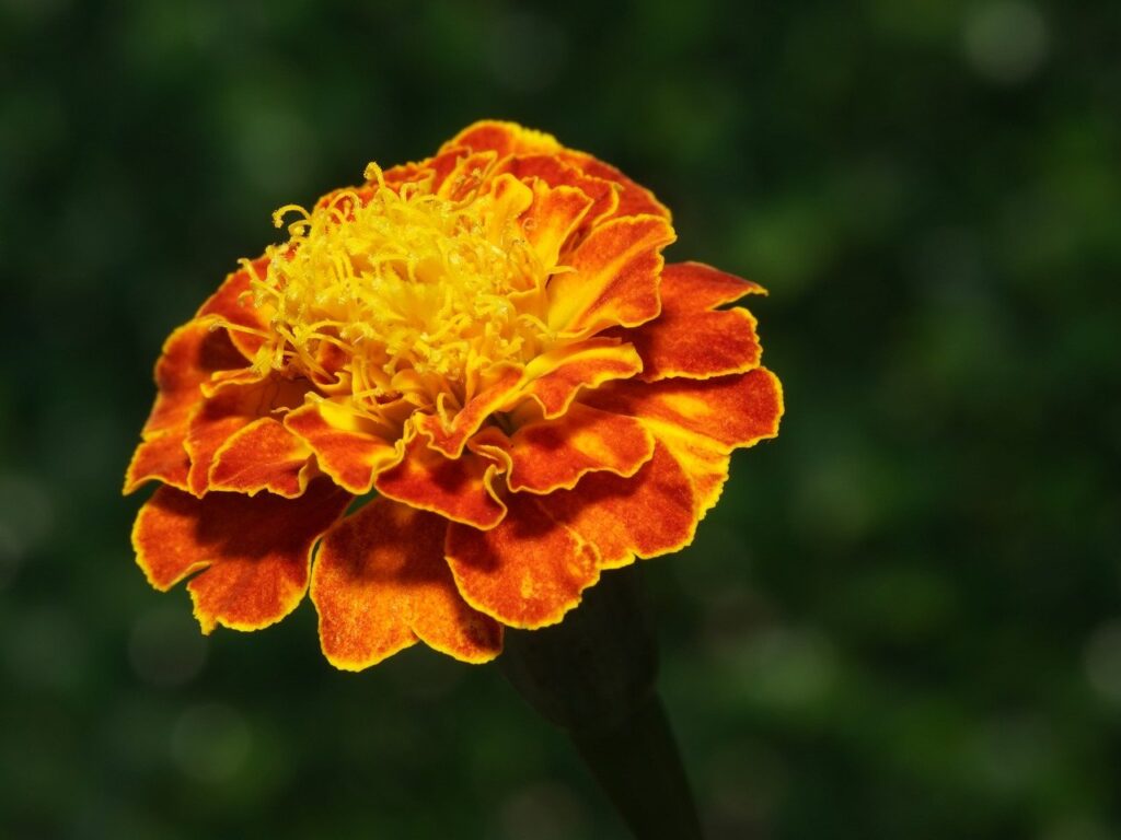
[[[581,389],[594,389],[611,380],[630,379],[642,370],[642,360],[630,344],[618,338],[589,338],[544,353],[528,365],[519,392],[531,396],[545,417],[560,417]],[[509,401],[502,407],[515,408]]]

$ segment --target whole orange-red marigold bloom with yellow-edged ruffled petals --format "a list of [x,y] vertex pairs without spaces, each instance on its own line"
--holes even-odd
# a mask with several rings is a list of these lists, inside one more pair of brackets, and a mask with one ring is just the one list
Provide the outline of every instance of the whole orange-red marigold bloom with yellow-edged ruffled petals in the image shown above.
[[731,451],[777,433],[756,320],[720,308],[762,289],[667,265],[649,192],[511,123],[365,177],[278,211],[288,241],[164,345],[137,561],[193,575],[204,633],[311,588],[337,668],[417,640],[484,662],[688,544]]

